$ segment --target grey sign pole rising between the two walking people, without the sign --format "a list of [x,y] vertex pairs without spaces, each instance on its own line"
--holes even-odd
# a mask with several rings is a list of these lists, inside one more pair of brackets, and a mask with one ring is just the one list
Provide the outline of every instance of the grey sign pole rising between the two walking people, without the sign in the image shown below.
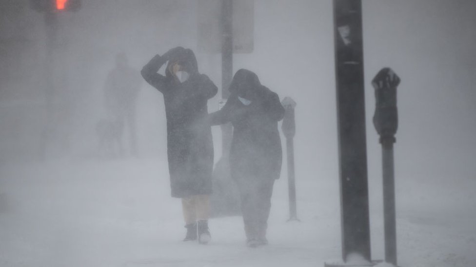
[[[221,1],[221,98],[230,96],[229,87],[233,79],[233,0]],[[230,153],[232,138],[231,124],[221,126],[222,156]]]

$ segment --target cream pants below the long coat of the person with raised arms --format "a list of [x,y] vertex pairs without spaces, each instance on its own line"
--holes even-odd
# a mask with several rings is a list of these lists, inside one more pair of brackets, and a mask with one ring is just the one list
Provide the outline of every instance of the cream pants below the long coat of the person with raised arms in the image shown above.
[[196,195],[182,198],[182,210],[185,224],[197,220],[208,220],[210,214],[210,196]]

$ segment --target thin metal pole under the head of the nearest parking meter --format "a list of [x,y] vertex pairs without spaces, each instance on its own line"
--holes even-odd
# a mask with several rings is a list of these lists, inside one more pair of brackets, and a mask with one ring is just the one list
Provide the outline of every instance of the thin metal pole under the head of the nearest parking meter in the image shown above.
[[397,266],[397,230],[395,216],[395,177],[393,142],[382,142],[383,215],[385,261]]

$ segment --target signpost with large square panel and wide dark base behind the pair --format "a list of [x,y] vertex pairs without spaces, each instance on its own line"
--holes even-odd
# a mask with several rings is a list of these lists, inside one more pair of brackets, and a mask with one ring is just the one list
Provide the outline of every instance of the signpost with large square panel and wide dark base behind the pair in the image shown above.
[[[254,0],[199,0],[198,50],[204,53],[221,53],[222,107],[230,96],[233,79],[233,53],[253,52]],[[214,194],[211,196],[211,213],[215,216],[239,214],[239,195],[231,179],[229,153],[233,128],[221,125],[222,155],[213,171]]]

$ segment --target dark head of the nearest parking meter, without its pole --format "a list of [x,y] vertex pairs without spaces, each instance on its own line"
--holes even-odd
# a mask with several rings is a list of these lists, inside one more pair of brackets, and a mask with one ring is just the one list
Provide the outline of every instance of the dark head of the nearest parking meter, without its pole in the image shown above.
[[396,141],[395,134],[398,128],[397,86],[399,84],[400,78],[390,68],[383,68],[372,80],[376,98],[373,122],[382,144]]

